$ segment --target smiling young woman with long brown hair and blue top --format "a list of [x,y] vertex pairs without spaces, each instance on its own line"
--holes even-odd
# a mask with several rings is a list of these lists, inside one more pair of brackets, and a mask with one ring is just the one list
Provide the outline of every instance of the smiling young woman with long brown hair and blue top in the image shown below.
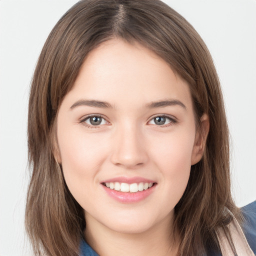
[[158,0],[82,0],[63,15],[34,72],[28,146],[35,254],[255,253],[210,54]]

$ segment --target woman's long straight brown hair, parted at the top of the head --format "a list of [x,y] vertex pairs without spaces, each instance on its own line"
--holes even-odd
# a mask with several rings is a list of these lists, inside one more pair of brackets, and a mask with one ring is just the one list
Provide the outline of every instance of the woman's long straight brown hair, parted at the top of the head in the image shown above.
[[191,166],[187,187],[175,206],[181,235],[179,255],[203,255],[218,247],[215,231],[238,209],[230,194],[228,129],[219,80],[211,56],[194,28],[159,0],[81,0],[49,34],[30,90],[28,149],[32,167],[25,223],[34,252],[73,256],[85,228],[84,212],[69,192],[54,158],[54,123],[84,58],[101,42],[137,41],[163,58],[189,86],[200,129],[209,133],[202,159]]

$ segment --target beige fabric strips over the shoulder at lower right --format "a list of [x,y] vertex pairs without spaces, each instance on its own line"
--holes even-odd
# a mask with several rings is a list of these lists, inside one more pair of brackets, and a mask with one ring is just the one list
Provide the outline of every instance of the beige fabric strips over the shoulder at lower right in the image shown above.
[[[233,217],[233,220],[227,225],[232,236],[234,248],[237,256],[255,256],[251,250],[246,238],[242,232],[237,220]],[[233,250],[225,236],[222,228],[217,230],[218,242],[220,245],[222,256],[234,256]]]

